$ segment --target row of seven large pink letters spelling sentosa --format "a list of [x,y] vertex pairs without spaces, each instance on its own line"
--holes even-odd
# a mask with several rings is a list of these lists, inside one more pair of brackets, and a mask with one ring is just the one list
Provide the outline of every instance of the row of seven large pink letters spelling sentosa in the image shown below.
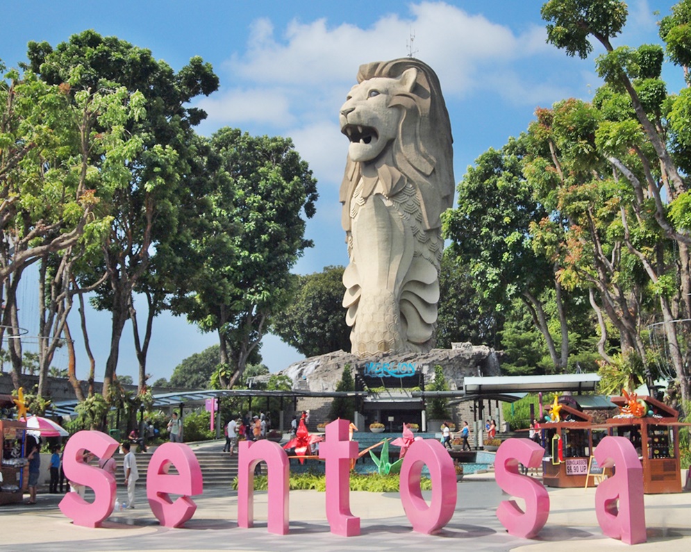
[[[338,419],[326,426],[326,442],[319,457],[326,461],[326,519],[331,533],[344,537],[360,535],[360,518],[350,511],[350,460],[358,458],[358,442],[349,441],[348,420]],[[88,503],[76,492],[60,501],[60,510],[74,524],[99,527],[113,512],[115,478],[103,469],[84,462],[84,451],[99,458],[110,458],[117,441],[99,431],[80,431],[65,446],[65,476],[94,490]],[[497,518],[508,533],[532,538],[540,533],[549,517],[549,494],[534,478],[518,473],[519,462],[538,467],[544,450],[528,439],[509,439],[499,447],[494,463],[497,485],[508,494],[525,501],[525,510],[515,501],[502,501]],[[643,505],[643,469],[630,441],[624,437],[605,437],[594,451],[600,466],[616,466],[615,475],[604,480],[595,492],[595,512],[602,531],[626,544],[646,542]],[[288,455],[271,441],[240,442],[238,455],[238,526],[253,526],[253,471],[259,462],[269,467],[268,530],[288,533],[290,469]],[[174,465],[178,474],[168,474]],[[432,498],[427,503],[419,486],[422,467],[428,467]],[[403,458],[400,474],[401,503],[413,530],[435,533],[453,517],[458,499],[456,470],[451,456],[437,440],[414,442]],[[151,456],[147,470],[147,498],[151,512],[165,527],[181,527],[194,515],[197,505],[192,496],[203,492],[199,461],[189,446],[165,443]],[[170,494],[180,497],[172,501]]]

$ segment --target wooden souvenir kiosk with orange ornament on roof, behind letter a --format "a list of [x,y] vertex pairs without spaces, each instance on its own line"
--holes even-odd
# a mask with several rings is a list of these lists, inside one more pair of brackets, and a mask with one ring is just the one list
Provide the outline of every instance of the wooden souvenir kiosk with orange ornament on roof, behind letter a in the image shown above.
[[643,465],[643,492],[681,492],[678,412],[650,396],[614,396],[622,411],[607,420],[610,435],[626,437]]

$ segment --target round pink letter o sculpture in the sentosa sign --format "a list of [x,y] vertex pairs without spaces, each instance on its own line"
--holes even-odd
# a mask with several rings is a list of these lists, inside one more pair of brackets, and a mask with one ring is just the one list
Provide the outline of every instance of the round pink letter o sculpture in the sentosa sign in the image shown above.
[[[427,505],[420,491],[422,467],[432,480],[432,502]],[[456,510],[456,469],[451,456],[436,440],[415,441],[408,448],[400,476],[401,503],[413,530],[434,533],[444,527]]]

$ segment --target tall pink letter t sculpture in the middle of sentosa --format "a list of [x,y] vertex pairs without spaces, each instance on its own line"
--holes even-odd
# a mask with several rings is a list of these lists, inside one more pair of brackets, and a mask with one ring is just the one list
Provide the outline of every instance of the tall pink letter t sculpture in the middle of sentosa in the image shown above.
[[349,440],[350,421],[337,419],[326,426],[326,442],[319,458],[326,460],[326,519],[331,533],[360,535],[360,518],[350,511],[350,459],[358,458],[358,442]]

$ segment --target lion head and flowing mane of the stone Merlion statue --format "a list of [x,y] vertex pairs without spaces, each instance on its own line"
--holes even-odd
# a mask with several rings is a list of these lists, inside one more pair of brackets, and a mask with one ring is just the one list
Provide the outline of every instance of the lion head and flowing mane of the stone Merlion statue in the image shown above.
[[[340,189],[344,230],[350,229],[350,200],[360,178],[391,181],[399,174],[402,178],[391,183],[392,193],[406,179],[415,182],[425,229],[439,228],[440,214],[451,207],[455,187],[451,123],[439,79],[414,58],[360,65],[357,78],[340,113],[341,131],[351,141]],[[370,97],[373,92],[378,94]],[[368,106],[372,100],[378,105]],[[369,135],[358,133],[358,126]],[[353,159],[351,153],[367,140],[376,142],[376,157]]]

